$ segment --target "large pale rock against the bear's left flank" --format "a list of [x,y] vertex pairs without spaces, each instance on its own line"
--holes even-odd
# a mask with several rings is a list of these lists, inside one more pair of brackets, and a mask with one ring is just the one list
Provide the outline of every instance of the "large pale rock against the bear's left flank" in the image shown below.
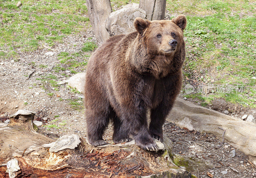
[[77,89],[77,91],[84,93],[85,73],[77,73],[69,78],[68,85]]

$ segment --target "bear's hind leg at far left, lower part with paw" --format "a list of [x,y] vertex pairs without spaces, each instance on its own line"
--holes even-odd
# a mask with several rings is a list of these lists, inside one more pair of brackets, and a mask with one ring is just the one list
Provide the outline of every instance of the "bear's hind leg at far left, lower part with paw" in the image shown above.
[[102,135],[109,123],[108,114],[97,113],[93,112],[91,109],[86,109],[85,116],[89,143],[93,146],[108,144],[102,138]]

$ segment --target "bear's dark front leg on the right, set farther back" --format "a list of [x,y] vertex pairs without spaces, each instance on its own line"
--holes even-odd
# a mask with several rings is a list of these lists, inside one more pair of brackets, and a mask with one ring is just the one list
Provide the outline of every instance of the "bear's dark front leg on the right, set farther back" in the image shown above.
[[149,123],[148,132],[153,138],[159,140],[160,142],[163,142],[163,125],[165,117],[171,110],[172,105],[173,102],[170,103],[163,101],[155,109],[151,110],[151,121]]

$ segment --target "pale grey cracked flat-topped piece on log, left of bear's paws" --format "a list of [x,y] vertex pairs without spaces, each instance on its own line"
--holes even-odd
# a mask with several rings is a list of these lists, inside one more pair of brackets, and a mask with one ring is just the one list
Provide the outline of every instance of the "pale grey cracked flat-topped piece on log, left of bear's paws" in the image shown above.
[[64,149],[75,149],[77,145],[81,143],[79,140],[79,136],[76,134],[68,134],[68,135],[63,135],[62,137],[58,138],[56,142],[52,142],[49,144],[44,144],[42,145],[45,148],[50,147],[49,151],[50,152],[58,152],[60,150]]

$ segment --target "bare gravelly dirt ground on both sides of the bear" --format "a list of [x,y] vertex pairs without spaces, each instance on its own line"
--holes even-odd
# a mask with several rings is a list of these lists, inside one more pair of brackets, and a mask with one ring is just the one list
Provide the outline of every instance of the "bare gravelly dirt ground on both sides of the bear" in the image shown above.
[[[86,36],[92,36],[93,31],[89,29]],[[79,99],[81,94],[75,94],[66,85],[60,85],[58,91],[55,91],[51,85],[44,85],[42,81],[36,80],[45,74],[54,74],[57,81],[67,80],[71,74],[68,71],[56,73],[53,67],[59,63],[58,54],[60,52],[78,52],[81,46],[88,40],[84,34],[69,36],[64,39],[64,43],[56,44],[53,47],[53,56],[45,55],[49,49],[42,48],[34,53],[20,52],[21,58],[18,61],[1,61],[0,65],[0,122],[5,121],[8,116],[14,114],[18,109],[30,110],[36,112],[36,120],[43,121],[44,125],[39,127],[39,132],[51,138],[58,138],[65,134],[77,134],[85,137],[85,120],[83,110],[73,109],[70,105],[72,99]],[[74,46],[76,44],[76,46]],[[77,57],[77,61],[84,61],[84,58]],[[29,63],[35,61],[37,66]],[[47,68],[41,68],[40,65],[47,65]],[[34,71],[28,78],[28,75]],[[83,72],[78,70],[77,72]],[[65,74],[65,75],[62,75]],[[53,96],[47,95],[54,93]],[[61,100],[60,100],[61,98]],[[198,103],[196,99],[188,99]],[[78,100],[78,103],[82,103]],[[222,102],[223,103],[223,102]],[[226,108],[227,104],[216,102],[212,107],[215,110]],[[224,106],[225,105],[225,106]],[[222,109],[220,109],[222,108]],[[247,110],[237,109],[236,114],[241,117]],[[253,112],[253,111],[250,111]],[[240,114],[240,115],[239,115]],[[58,117],[56,117],[58,116]],[[49,125],[54,127],[49,127]],[[48,125],[48,127],[47,127]],[[57,126],[57,127],[55,127]],[[173,154],[182,155],[198,163],[198,167],[188,165],[185,161],[179,162],[179,165],[186,167],[188,171],[198,177],[256,177],[255,167],[248,162],[247,156],[241,151],[235,149],[235,156],[232,157],[231,151],[234,148],[227,143],[222,142],[222,138],[217,138],[211,134],[188,131],[186,128],[179,128],[172,123],[166,123],[164,133],[174,142]],[[105,139],[111,143],[111,126],[108,128]],[[201,163],[212,165],[205,169],[200,167]],[[198,171],[197,171],[198,169]],[[209,173],[208,173],[209,172]],[[208,173],[208,175],[207,175]],[[211,174],[210,174],[211,173]]]

